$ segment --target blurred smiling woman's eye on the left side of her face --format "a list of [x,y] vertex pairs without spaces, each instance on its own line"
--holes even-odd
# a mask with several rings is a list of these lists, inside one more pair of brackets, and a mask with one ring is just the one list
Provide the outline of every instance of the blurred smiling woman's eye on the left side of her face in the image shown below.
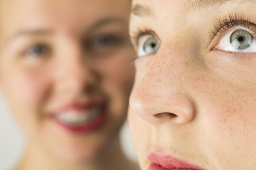
[[27,56],[32,56],[32,57],[42,57],[49,54],[49,52],[50,52],[50,49],[47,46],[43,44],[38,44],[26,50],[25,54]]

